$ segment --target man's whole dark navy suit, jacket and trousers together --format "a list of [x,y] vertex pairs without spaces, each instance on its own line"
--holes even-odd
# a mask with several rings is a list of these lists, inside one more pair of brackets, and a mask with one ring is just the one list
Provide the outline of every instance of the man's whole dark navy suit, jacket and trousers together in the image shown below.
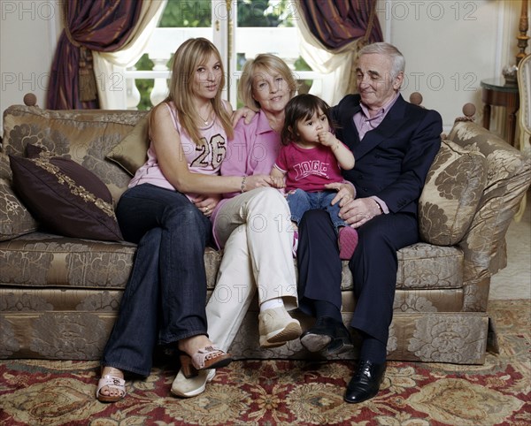
[[[354,153],[354,169],[343,171],[357,189],[357,197],[376,195],[391,214],[380,215],[358,228],[358,247],[349,262],[356,309],[350,325],[387,342],[396,286],[396,250],[418,240],[418,201],[435,155],[441,145],[441,116],[406,103],[402,96],[380,126],[359,141],[353,117],[359,95],[347,95],[333,108],[339,125],[337,138]],[[342,307],[342,263],[337,237],[326,214],[307,212],[299,227],[297,262],[299,308],[318,312],[315,300]],[[320,307],[321,305],[319,305]]]

